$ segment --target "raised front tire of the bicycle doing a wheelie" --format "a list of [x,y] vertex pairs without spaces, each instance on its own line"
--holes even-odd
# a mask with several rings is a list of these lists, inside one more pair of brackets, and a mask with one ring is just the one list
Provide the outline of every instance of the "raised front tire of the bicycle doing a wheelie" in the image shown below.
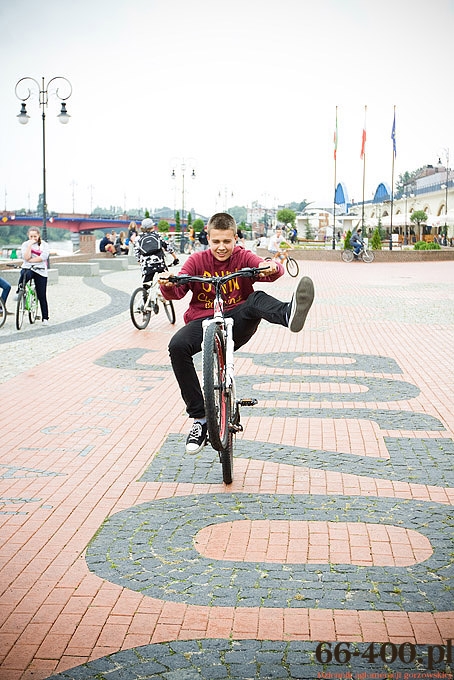
[[203,393],[210,444],[216,451],[227,449],[229,439],[229,395],[225,389],[225,345],[218,324],[210,324],[203,339]]

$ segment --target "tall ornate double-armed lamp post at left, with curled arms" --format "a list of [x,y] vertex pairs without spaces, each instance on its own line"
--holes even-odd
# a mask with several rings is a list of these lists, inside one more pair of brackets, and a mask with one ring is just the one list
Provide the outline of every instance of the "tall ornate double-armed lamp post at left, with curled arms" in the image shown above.
[[[51,83],[54,83],[56,81],[59,81],[61,86],[64,88],[64,92],[67,92],[68,94],[63,97],[60,92],[59,88],[57,86],[55,94],[58,99],[62,102],[61,105],[61,110],[60,113],[58,114],[57,118],[59,119],[60,123],[63,125],[66,125],[68,123],[70,115],[66,110],[66,100],[70,98],[72,94],[72,85],[69,82],[69,80],[63,76],[55,76],[54,78],[51,78],[47,84],[44,82],[44,77],[41,78],[41,84],[35,78],[31,78],[29,76],[26,76],[25,78],[21,78],[18,80],[16,83],[15,87],[15,93],[16,97],[22,102],[21,103],[21,110],[20,113],[17,115],[17,119],[19,123],[22,125],[26,125],[30,119],[30,116],[27,113],[27,107],[25,102],[30,98],[32,95],[32,91],[36,90],[39,93],[39,106],[41,107],[42,111],[42,121],[43,121],[43,133],[42,133],[42,140],[43,140],[43,226],[42,226],[42,231],[43,231],[43,240],[47,240],[47,195],[46,195],[46,108],[47,108],[47,103],[49,100],[49,86]],[[56,83],[57,84],[57,83]],[[21,94],[22,93],[22,94]],[[52,93],[51,93],[52,94]]]

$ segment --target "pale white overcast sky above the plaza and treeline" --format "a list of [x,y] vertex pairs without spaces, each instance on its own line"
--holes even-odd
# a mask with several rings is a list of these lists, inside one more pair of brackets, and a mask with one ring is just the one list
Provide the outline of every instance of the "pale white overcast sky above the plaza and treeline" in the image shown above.
[[365,105],[366,199],[391,185],[394,106],[395,180],[444,163],[443,149],[454,164],[454,0],[0,0],[0,27],[8,211],[35,209],[42,191],[37,95],[29,124],[16,119],[25,76],[73,88],[68,125],[55,96],[46,111],[56,212],[181,209],[183,159],[185,208],[206,215],[226,197],[332,205],[336,106],[350,199],[362,198]]

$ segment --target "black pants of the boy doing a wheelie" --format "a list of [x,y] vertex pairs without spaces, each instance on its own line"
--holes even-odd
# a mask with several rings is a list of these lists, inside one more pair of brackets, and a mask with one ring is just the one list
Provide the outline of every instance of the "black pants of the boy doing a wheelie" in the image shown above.
[[[288,325],[289,303],[276,300],[263,291],[255,291],[246,302],[226,314],[233,318],[235,350],[252,338],[260,321]],[[203,418],[205,404],[192,357],[202,350],[203,319],[191,321],[175,333],[169,343],[173,372],[180,387],[186,411],[191,418]]]

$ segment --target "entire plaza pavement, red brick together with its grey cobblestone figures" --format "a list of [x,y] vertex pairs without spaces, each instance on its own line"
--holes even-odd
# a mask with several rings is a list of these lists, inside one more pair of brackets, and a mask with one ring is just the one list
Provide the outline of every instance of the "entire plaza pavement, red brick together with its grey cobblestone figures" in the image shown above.
[[134,268],[80,279],[76,319],[8,319],[0,680],[453,677],[453,264],[300,265],[302,333],[236,355],[259,404],[228,487],[184,453],[174,328],[134,329]]

